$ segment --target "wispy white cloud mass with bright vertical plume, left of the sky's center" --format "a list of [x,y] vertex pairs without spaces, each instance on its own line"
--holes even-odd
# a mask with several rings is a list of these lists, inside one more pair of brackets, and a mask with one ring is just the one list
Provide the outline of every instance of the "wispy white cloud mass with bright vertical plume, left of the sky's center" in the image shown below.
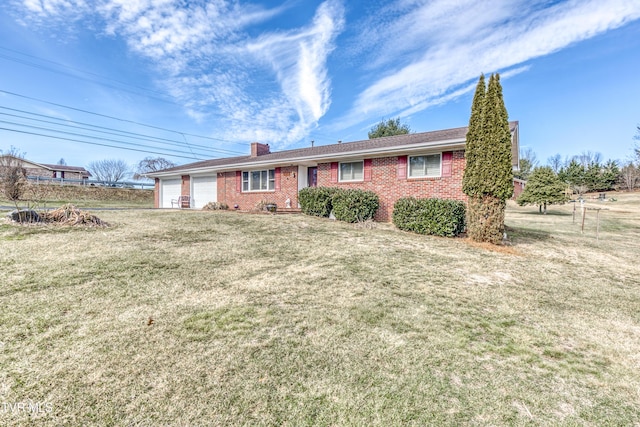
[[[285,146],[317,126],[330,105],[327,59],[344,24],[339,0],[312,22],[286,31],[260,25],[285,11],[227,0],[23,0],[31,19],[98,19],[151,59],[162,84],[198,120],[216,119],[216,135]],[[250,37],[250,32],[259,36]]]

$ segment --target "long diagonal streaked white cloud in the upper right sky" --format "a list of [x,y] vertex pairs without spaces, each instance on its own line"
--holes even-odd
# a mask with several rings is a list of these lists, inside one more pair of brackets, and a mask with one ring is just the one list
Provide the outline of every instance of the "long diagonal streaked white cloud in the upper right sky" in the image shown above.
[[375,31],[356,37],[359,54],[375,51],[377,59],[338,127],[446,102],[466,93],[481,72],[508,70],[639,17],[637,0],[392,3],[365,20]]

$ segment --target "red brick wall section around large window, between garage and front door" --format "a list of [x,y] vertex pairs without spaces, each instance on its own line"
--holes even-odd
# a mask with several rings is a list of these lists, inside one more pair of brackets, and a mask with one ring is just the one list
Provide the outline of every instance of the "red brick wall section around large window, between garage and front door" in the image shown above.
[[[277,180],[276,176],[276,180]],[[276,188],[278,183],[276,182]],[[218,174],[218,202],[226,203],[229,209],[238,205],[240,210],[251,210],[260,202],[275,203],[278,210],[284,210],[286,200],[291,200],[291,207],[298,207],[298,167],[280,168],[280,190],[243,193],[236,189],[236,172]]]

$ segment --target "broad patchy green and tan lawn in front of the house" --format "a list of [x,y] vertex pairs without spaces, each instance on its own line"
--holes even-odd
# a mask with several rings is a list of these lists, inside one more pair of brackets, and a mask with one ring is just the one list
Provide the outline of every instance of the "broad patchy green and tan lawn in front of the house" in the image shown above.
[[510,204],[500,248],[302,215],[0,222],[0,425],[639,425],[640,194],[616,197],[587,204],[599,240],[596,211],[581,233]]

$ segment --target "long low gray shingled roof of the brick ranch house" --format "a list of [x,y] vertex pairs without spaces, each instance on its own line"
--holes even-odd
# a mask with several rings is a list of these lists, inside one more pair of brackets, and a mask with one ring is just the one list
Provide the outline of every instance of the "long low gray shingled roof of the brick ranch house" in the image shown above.
[[[518,122],[510,122],[509,126],[511,132],[516,132]],[[267,163],[267,162],[284,162],[287,160],[305,158],[305,157],[340,157],[346,156],[350,153],[357,153],[363,150],[376,150],[376,149],[393,149],[394,147],[403,147],[411,145],[429,145],[430,143],[447,142],[459,144],[460,141],[464,141],[467,135],[467,127],[460,127],[454,129],[445,129],[432,132],[420,132],[410,133],[406,135],[388,136],[383,138],[366,139],[363,141],[346,142],[340,144],[319,145],[315,147],[297,148],[293,150],[276,151],[269,154],[262,154],[257,157],[238,156],[238,157],[224,157],[219,159],[203,160],[199,162],[189,163],[173,168],[163,169],[161,171],[154,172],[153,174],[165,174],[169,172],[180,172],[194,169],[207,169],[207,168],[223,168],[227,166],[233,166],[236,164],[247,164],[253,162]],[[517,151],[516,151],[517,155]]]

